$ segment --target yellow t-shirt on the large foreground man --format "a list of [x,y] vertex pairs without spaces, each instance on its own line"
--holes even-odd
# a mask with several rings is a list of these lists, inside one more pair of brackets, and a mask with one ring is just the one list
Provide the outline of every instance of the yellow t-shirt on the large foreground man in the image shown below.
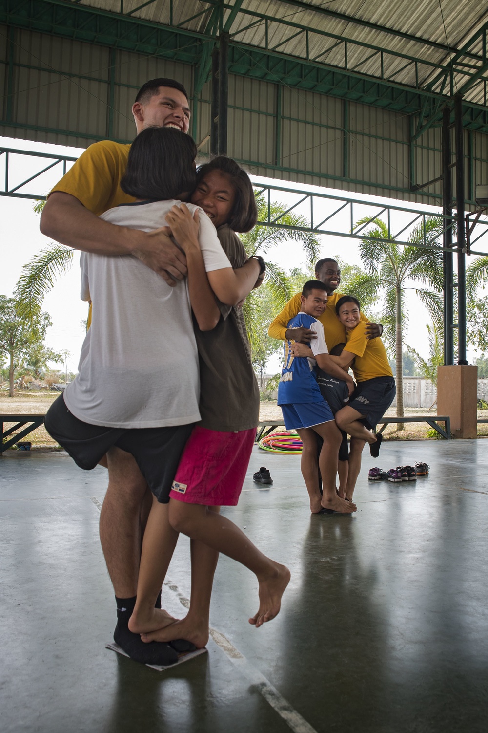
[[50,193],[71,194],[97,216],[120,204],[135,202],[135,198],[124,194],[120,187],[129,150],[130,145],[112,140],[95,142],[86,148]]

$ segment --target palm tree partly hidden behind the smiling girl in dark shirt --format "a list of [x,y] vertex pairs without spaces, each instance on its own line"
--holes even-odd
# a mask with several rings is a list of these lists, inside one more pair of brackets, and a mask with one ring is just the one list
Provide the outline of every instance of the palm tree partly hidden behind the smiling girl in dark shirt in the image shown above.
[[[259,343],[263,339],[262,325],[263,309],[261,303],[264,293],[271,296],[271,310],[274,313],[282,310],[285,303],[293,295],[292,283],[285,271],[274,262],[266,258],[268,252],[285,242],[296,242],[307,258],[307,264],[314,266],[320,254],[320,244],[313,232],[309,229],[309,222],[303,216],[287,212],[286,207],[278,202],[268,205],[262,194],[256,194],[256,205],[258,207],[258,221],[274,221],[286,229],[269,226],[267,224],[256,224],[250,232],[239,235],[244,244],[247,256],[260,254],[266,260],[266,281],[258,291],[252,290],[244,301],[243,312],[246,321],[247,334],[251,349],[258,350]],[[293,227],[288,229],[288,227]],[[264,289],[264,290],[263,290]],[[261,292],[259,292],[261,291]],[[267,308],[266,311],[269,312]],[[266,331],[268,330],[266,324]],[[267,338],[267,336],[265,336]]]

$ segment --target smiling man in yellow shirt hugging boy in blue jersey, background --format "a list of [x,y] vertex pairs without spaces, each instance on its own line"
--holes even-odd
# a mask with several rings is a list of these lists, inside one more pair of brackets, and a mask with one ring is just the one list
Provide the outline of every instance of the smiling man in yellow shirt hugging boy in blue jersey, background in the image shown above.
[[[343,293],[335,292],[341,281],[341,271],[339,265],[331,257],[319,259],[315,265],[315,279],[320,280],[326,286],[327,290],[327,307],[318,320],[323,325],[323,331],[326,336],[326,344],[329,353],[337,346],[345,342],[345,329],[342,323],[336,317],[336,303],[342,298]],[[272,321],[269,326],[268,334],[272,339],[279,341],[296,341],[308,344],[310,339],[315,339],[315,334],[309,328],[288,328],[288,321],[300,312],[301,301],[300,294],[293,295],[285,308]],[[361,313],[361,321],[364,321],[366,328],[364,329],[368,339],[375,339],[383,334],[383,326],[380,323],[370,323],[367,317]]]

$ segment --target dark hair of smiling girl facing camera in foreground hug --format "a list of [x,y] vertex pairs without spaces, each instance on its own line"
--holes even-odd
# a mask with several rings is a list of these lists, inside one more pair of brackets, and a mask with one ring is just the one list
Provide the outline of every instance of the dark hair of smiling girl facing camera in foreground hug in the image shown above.
[[202,183],[210,171],[222,171],[228,175],[234,187],[236,198],[226,224],[234,232],[249,232],[258,221],[258,209],[249,176],[232,158],[217,155],[209,163],[203,163],[203,166],[198,168],[197,185]]

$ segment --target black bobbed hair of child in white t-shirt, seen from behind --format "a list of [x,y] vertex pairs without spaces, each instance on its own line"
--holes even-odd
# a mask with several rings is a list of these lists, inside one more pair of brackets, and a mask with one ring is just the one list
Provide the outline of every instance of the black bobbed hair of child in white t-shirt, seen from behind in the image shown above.
[[135,199],[175,199],[195,188],[195,141],[174,128],[142,130],[130,146],[120,187]]

